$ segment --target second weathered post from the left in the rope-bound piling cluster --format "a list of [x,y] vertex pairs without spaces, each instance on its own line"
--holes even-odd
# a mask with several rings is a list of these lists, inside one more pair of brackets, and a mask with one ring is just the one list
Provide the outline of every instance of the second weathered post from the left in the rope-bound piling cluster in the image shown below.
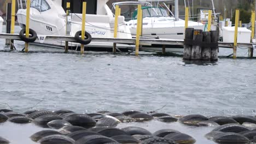
[[191,51],[191,60],[201,59],[202,29],[195,29],[193,35],[194,45]]

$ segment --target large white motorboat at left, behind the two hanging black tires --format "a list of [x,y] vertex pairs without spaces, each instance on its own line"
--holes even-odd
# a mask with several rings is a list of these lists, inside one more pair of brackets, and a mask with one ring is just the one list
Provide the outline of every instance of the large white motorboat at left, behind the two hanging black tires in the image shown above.
[[[94,1],[96,5],[89,5]],[[19,10],[17,12],[18,22],[21,28],[26,27],[26,0],[18,0]],[[63,9],[63,0],[31,0],[30,28],[38,35],[66,35],[66,12]],[[74,1],[73,1],[74,2]],[[80,1],[79,1],[80,2]],[[107,6],[108,0],[90,0],[87,5],[89,8],[96,7],[94,14],[86,14],[85,30],[90,33],[92,38],[113,38],[114,37],[114,16]],[[72,3],[71,3],[72,5]],[[78,5],[73,4],[74,8]],[[82,3],[79,4],[79,6]],[[75,9],[76,10],[76,9]],[[74,10],[74,11],[75,11]],[[71,28],[72,36],[82,29],[82,14],[71,13],[68,26]],[[129,39],[131,32],[127,27],[124,16],[118,17],[117,38]],[[36,41],[39,44],[39,41]],[[65,46],[65,41],[44,41],[41,45],[51,45],[57,47]],[[69,43],[69,46],[79,46],[78,43]],[[106,48],[113,47],[113,43],[91,42],[86,47]],[[134,47],[133,45],[118,44],[118,48]]]

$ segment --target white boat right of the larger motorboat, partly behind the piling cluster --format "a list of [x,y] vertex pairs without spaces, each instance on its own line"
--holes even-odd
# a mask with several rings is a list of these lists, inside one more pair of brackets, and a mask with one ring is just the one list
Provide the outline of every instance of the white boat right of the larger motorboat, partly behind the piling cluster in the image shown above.
[[[122,9],[126,7],[126,12],[123,15],[130,15],[129,18],[126,18],[127,25],[131,30],[132,35],[136,35],[137,28],[137,9],[134,11],[127,10],[127,5],[135,5],[137,7],[138,4],[142,5],[142,14],[143,14],[143,26],[142,26],[142,36],[149,38],[164,38],[164,39],[184,39],[184,30],[185,30],[185,21],[179,19],[178,16],[178,2],[176,5],[176,13],[173,15],[172,11],[167,7],[166,1],[174,1],[174,0],[139,0],[137,1],[129,1],[129,2],[116,2],[113,3],[113,8],[115,5],[119,5]],[[149,2],[156,2],[157,5],[152,5]],[[164,5],[165,7],[162,7]],[[128,14],[126,14],[128,13]],[[189,21],[188,27],[193,27],[195,29],[207,29],[205,24],[201,22]],[[215,29],[215,27],[212,27]],[[173,48],[173,46],[171,46]],[[177,47],[177,46],[174,46]],[[181,47],[183,48],[183,47]],[[161,47],[157,45],[154,46],[143,46],[142,49],[146,50],[159,50],[161,51]],[[183,49],[167,49],[167,51],[177,51],[183,52]]]

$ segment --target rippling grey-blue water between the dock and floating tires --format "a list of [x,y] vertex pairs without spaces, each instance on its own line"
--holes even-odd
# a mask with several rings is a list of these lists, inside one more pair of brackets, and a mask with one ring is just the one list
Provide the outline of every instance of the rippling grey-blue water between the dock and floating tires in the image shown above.
[[[187,63],[182,57],[147,52],[139,57],[106,52],[79,55],[30,46],[30,52],[23,53],[20,50],[24,43],[15,45],[18,50],[9,52],[4,40],[0,40],[0,109],[69,109],[80,113],[160,109],[171,115],[255,115],[256,59]],[[238,56],[246,56],[246,52],[238,49]],[[220,49],[220,55],[230,53],[232,50]],[[158,127],[153,127],[155,124]],[[21,125],[8,129],[10,125],[15,124],[0,125],[0,134],[18,143],[21,136],[15,138],[14,134],[22,130]],[[211,143],[203,135],[212,128],[155,121],[133,125],[152,132],[170,127],[190,134],[198,143]],[[26,127],[29,129],[31,124]],[[30,136],[39,129],[24,135]]]

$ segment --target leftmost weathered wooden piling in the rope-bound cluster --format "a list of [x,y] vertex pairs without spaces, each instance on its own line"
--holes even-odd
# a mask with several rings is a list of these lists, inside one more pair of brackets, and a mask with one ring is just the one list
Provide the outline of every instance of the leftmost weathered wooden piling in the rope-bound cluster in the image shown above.
[[[185,29],[185,39],[193,40],[194,28],[186,28]],[[191,59],[191,51],[192,45],[184,45],[183,59],[190,60]]]

